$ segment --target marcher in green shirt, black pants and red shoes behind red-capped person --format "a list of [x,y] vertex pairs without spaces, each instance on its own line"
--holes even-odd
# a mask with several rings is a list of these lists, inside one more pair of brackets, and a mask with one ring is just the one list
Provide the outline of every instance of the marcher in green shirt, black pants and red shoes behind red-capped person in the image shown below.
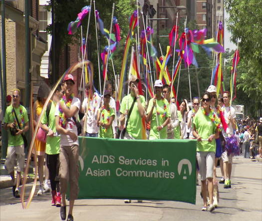
[[60,184],[58,181],[59,173],[59,149],[60,137],[57,136],[55,128],[55,105],[63,96],[63,86],[59,84],[41,119],[41,128],[46,132],[46,165],[49,171],[49,180],[52,190],[52,206],[61,206]]

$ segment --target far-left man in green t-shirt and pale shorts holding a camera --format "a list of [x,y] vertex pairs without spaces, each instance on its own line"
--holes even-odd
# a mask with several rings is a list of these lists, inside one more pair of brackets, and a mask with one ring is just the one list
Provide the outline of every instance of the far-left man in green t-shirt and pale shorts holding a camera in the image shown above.
[[[20,104],[20,90],[14,89],[12,97],[13,103],[6,108],[3,119],[4,129],[8,132],[8,147],[4,166],[12,179],[13,196],[19,198],[18,187],[20,185],[21,172],[23,172],[24,168],[24,141],[22,134],[29,129],[29,126],[26,109]],[[14,166],[16,162],[17,173],[15,182]]]

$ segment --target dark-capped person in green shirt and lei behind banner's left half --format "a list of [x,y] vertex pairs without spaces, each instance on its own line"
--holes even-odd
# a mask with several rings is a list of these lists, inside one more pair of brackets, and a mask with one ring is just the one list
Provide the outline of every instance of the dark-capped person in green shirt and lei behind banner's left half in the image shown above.
[[104,92],[104,105],[97,113],[97,126],[99,127],[99,138],[113,138],[112,123],[115,118],[115,110],[109,106],[111,93]]

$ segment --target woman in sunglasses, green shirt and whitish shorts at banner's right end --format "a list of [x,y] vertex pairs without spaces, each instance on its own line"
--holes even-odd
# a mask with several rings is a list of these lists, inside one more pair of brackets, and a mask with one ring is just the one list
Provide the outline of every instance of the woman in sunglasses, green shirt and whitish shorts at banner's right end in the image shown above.
[[207,182],[210,199],[209,210],[215,210],[213,205],[213,167],[216,152],[215,139],[219,137],[220,121],[214,111],[210,108],[211,97],[205,92],[202,98],[203,107],[196,113],[193,125],[193,135],[197,138],[197,161],[202,183],[202,196],[204,207],[202,211],[207,211]]

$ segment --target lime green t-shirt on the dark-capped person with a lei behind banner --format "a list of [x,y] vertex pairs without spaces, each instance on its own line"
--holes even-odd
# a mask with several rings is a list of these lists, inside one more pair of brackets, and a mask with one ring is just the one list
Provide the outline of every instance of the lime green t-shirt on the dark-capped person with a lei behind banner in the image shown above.
[[[100,113],[100,121],[104,124],[108,124],[109,118],[115,116],[114,108],[109,108],[109,110],[103,109]],[[112,121],[113,123],[113,121]],[[99,127],[98,137],[100,138],[113,138],[112,125],[109,128]]]

